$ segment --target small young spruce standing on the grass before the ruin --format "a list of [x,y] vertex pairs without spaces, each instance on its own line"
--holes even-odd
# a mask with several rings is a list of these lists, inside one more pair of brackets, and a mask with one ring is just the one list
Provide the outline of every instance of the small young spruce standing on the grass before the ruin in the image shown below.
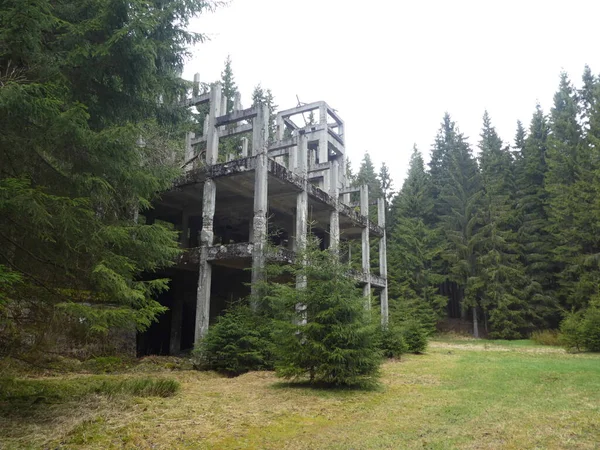
[[[296,264],[271,268],[290,281],[265,289],[263,301],[278,319],[277,375],[331,386],[373,384],[381,361],[378,325],[346,267],[331,252],[318,250],[314,239],[310,242]],[[296,289],[296,280],[306,280],[306,288]]]

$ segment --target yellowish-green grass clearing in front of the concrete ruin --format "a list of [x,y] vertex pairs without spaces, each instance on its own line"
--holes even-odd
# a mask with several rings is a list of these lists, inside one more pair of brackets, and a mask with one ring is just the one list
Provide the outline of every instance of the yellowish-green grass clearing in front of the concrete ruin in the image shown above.
[[[0,448],[600,446],[600,355],[530,341],[436,340],[424,355],[385,363],[382,386],[371,391],[310,389],[265,372],[146,375],[175,379],[180,390],[171,397],[92,390],[73,400],[5,399]],[[90,377],[28,381],[89,385]]]

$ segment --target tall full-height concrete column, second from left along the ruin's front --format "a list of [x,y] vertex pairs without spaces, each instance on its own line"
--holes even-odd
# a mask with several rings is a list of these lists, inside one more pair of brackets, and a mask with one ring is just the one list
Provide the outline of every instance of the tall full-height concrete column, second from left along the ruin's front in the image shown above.
[[[262,278],[265,265],[265,247],[267,240],[267,210],[269,168],[267,157],[267,138],[269,136],[269,111],[258,106],[258,115],[254,119],[252,132],[252,153],[256,155],[254,171],[254,219],[252,222],[252,294],[256,294],[256,284]],[[255,309],[256,304],[252,305]]]

